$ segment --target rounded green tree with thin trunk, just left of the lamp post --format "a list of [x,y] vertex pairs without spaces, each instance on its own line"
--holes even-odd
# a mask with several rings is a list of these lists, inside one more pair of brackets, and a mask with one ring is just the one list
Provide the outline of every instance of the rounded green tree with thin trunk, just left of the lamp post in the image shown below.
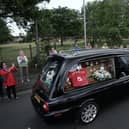
[[76,10],[66,7],[53,9],[51,23],[55,30],[55,37],[61,39],[61,45],[65,37],[82,36],[82,20]]

